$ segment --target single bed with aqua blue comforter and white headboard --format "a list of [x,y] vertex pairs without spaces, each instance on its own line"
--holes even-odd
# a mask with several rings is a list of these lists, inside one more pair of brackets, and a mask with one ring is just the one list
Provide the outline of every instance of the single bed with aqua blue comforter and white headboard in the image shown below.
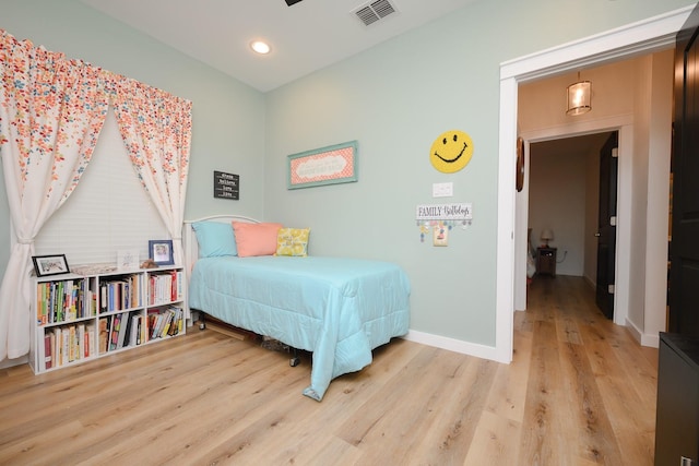
[[[332,379],[362,370],[371,363],[374,348],[407,333],[410,283],[399,265],[348,258],[200,252],[202,226],[232,222],[236,227],[260,224],[239,216],[185,223],[188,310],[311,351],[310,384],[304,395],[320,402]],[[238,241],[244,238],[235,236]]]

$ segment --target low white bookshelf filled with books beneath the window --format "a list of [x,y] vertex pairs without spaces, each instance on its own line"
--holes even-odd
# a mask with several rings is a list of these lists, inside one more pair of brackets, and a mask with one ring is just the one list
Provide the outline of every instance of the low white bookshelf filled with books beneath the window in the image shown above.
[[34,278],[34,373],[185,334],[182,267],[103,268]]

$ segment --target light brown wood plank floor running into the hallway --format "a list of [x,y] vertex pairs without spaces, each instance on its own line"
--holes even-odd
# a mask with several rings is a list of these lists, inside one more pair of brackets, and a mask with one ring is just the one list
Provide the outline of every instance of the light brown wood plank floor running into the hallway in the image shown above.
[[657,350],[592,299],[581,278],[535,279],[511,365],[396,339],[321,403],[301,395],[307,358],[196,327],[4,369],[0,464],[651,465]]

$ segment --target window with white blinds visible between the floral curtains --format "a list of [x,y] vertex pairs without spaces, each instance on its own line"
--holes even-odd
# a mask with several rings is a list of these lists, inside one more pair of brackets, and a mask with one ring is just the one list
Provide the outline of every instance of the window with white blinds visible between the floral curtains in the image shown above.
[[149,240],[170,236],[131,166],[110,109],[80,183],[35,241],[37,255],[66,254],[69,265],[115,263],[117,251],[149,256]]

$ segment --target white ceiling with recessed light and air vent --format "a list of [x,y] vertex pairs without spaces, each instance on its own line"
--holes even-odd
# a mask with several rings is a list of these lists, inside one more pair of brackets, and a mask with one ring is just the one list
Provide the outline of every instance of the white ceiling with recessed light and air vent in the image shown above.
[[[367,0],[81,0],[224,73],[268,92],[476,0],[390,0],[396,13],[365,26]],[[272,46],[251,52],[253,39]]]

